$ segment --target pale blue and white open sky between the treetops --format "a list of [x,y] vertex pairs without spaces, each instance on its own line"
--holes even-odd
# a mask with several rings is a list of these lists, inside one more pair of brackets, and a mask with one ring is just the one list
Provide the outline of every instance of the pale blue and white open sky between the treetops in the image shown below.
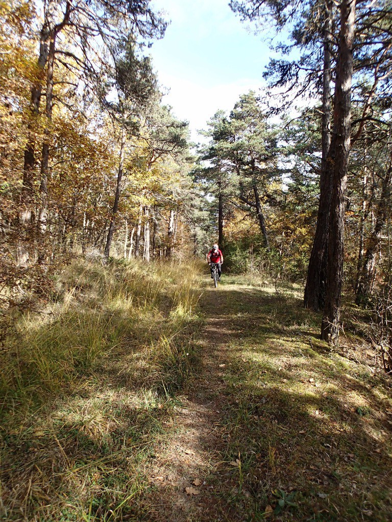
[[229,111],[240,94],[265,85],[271,51],[228,7],[228,0],[154,0],[155,10],[171,20],[162,40],[149,50],[163,102],[189,121],[191,139],[219,109]]

